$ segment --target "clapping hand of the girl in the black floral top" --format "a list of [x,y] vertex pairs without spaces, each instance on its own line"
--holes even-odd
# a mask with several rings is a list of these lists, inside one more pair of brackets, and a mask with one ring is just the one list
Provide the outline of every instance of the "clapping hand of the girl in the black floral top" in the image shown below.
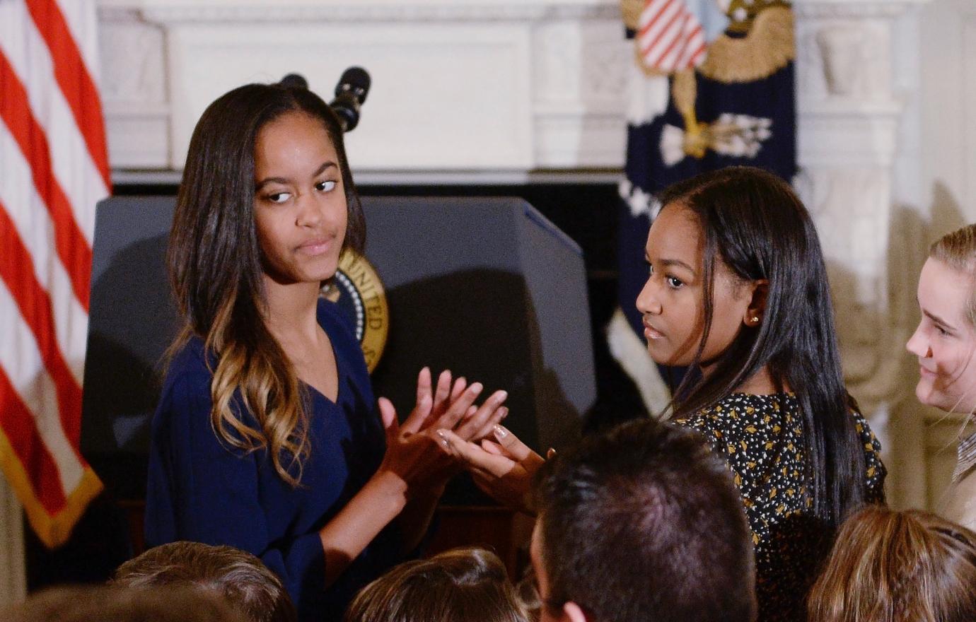
[[467,441],[451,430],[439,429],[444,447],[467,465],[482,490],[500,503],[535,514],[531,507],[532,478],[546,461],[541,455],[501,425],[493,428],[495,441],[482,439],[480,444]]

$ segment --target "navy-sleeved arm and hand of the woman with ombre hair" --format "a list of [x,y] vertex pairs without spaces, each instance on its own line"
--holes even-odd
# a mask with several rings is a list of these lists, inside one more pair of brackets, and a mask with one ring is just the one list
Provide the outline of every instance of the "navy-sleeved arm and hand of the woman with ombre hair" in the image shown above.
[[[261,452],[227,447],[218,439],[210,425],[210,376],[202,367],[196,371],[168,387],[154,419],[146,541],[154,545],[188,539],[244,549],[278,573],[296,600],[308,576],[320,574],[323,587],[331,585],[404,512],[408,500],[432,508],[436,495],[431,500],[428,492],[437,486],[431,483],[446,482],[444,474],[455,460],[432,429],[414,430],[431,419],[438,424],[460,421],[479,393],[473,386],[452,396],[438,417],[430,417],[432,399],[427,396],[402,430],[392,406],[382,400],[386,453],[377,472],[320,530],[283,538],[272,532],[267,514],[279,508],[259,494]],[[408,544],[426,528],[429,510],[421,514],[427,518],[404,530]]]

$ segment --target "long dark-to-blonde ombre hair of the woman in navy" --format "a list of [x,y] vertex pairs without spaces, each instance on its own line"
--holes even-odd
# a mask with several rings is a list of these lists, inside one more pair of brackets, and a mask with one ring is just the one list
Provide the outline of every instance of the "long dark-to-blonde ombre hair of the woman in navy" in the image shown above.
[[267,123],[294,112],[321,121],[336,148],[348,213],[344,249],[362,250],[362,208],[335,114],[307,89],[248,84],[211,103],[193,130],[166,261],[186,321],[170,356],[191,336],[203,339],[214,374],[215,434],[247,451],[266,448],[281,479],[298,486],[308,450],[307,395],[264,324],[267,303],[254,214],[258,135]]

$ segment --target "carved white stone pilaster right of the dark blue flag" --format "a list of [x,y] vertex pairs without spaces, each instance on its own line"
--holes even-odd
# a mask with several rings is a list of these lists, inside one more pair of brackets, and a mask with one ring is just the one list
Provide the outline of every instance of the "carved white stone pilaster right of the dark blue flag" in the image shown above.
[[[915,412],[915,279],[925,229],[895,199],[904,173],[906,101],[919,77],[896,65],[924,0],[794,3],[799,161],[834,294],[847,387],[872,421],[889,469],[889,501],[924,505],[926,437]],[[908,38],[904,38],[908,35]]]

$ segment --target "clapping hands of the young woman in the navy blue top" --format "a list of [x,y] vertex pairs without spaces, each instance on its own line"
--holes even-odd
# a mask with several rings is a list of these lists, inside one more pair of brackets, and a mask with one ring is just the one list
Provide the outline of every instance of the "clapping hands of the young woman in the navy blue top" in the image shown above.
[[401,424],[396,408],[380,398],[380,414],[386,429],[386,453],[379,471],[388,471],[403,481],[407,496],[440,494],[447,481],[461,470],[458,456],[437,435],[448,430],[465,442],[487,436],[508,414],[506,391],[496,391],[480,406],[475,400],[484,390],[480,382],[468,385],[464,377],[451,381],[444,370],[431,386],[430,369],[417,377],[417,404]]

